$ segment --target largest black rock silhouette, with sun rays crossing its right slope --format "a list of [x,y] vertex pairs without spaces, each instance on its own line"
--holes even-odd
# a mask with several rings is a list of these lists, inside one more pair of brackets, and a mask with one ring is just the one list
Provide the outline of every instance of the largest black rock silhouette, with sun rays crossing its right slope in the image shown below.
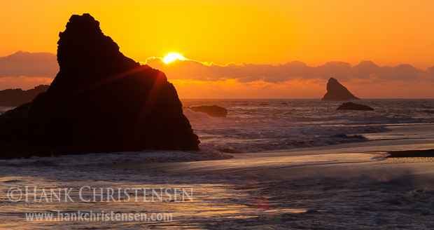
[[163,72],[125,57],[91,15],[72,15],[46,93],[0,116],[0,158],[198,150]]

